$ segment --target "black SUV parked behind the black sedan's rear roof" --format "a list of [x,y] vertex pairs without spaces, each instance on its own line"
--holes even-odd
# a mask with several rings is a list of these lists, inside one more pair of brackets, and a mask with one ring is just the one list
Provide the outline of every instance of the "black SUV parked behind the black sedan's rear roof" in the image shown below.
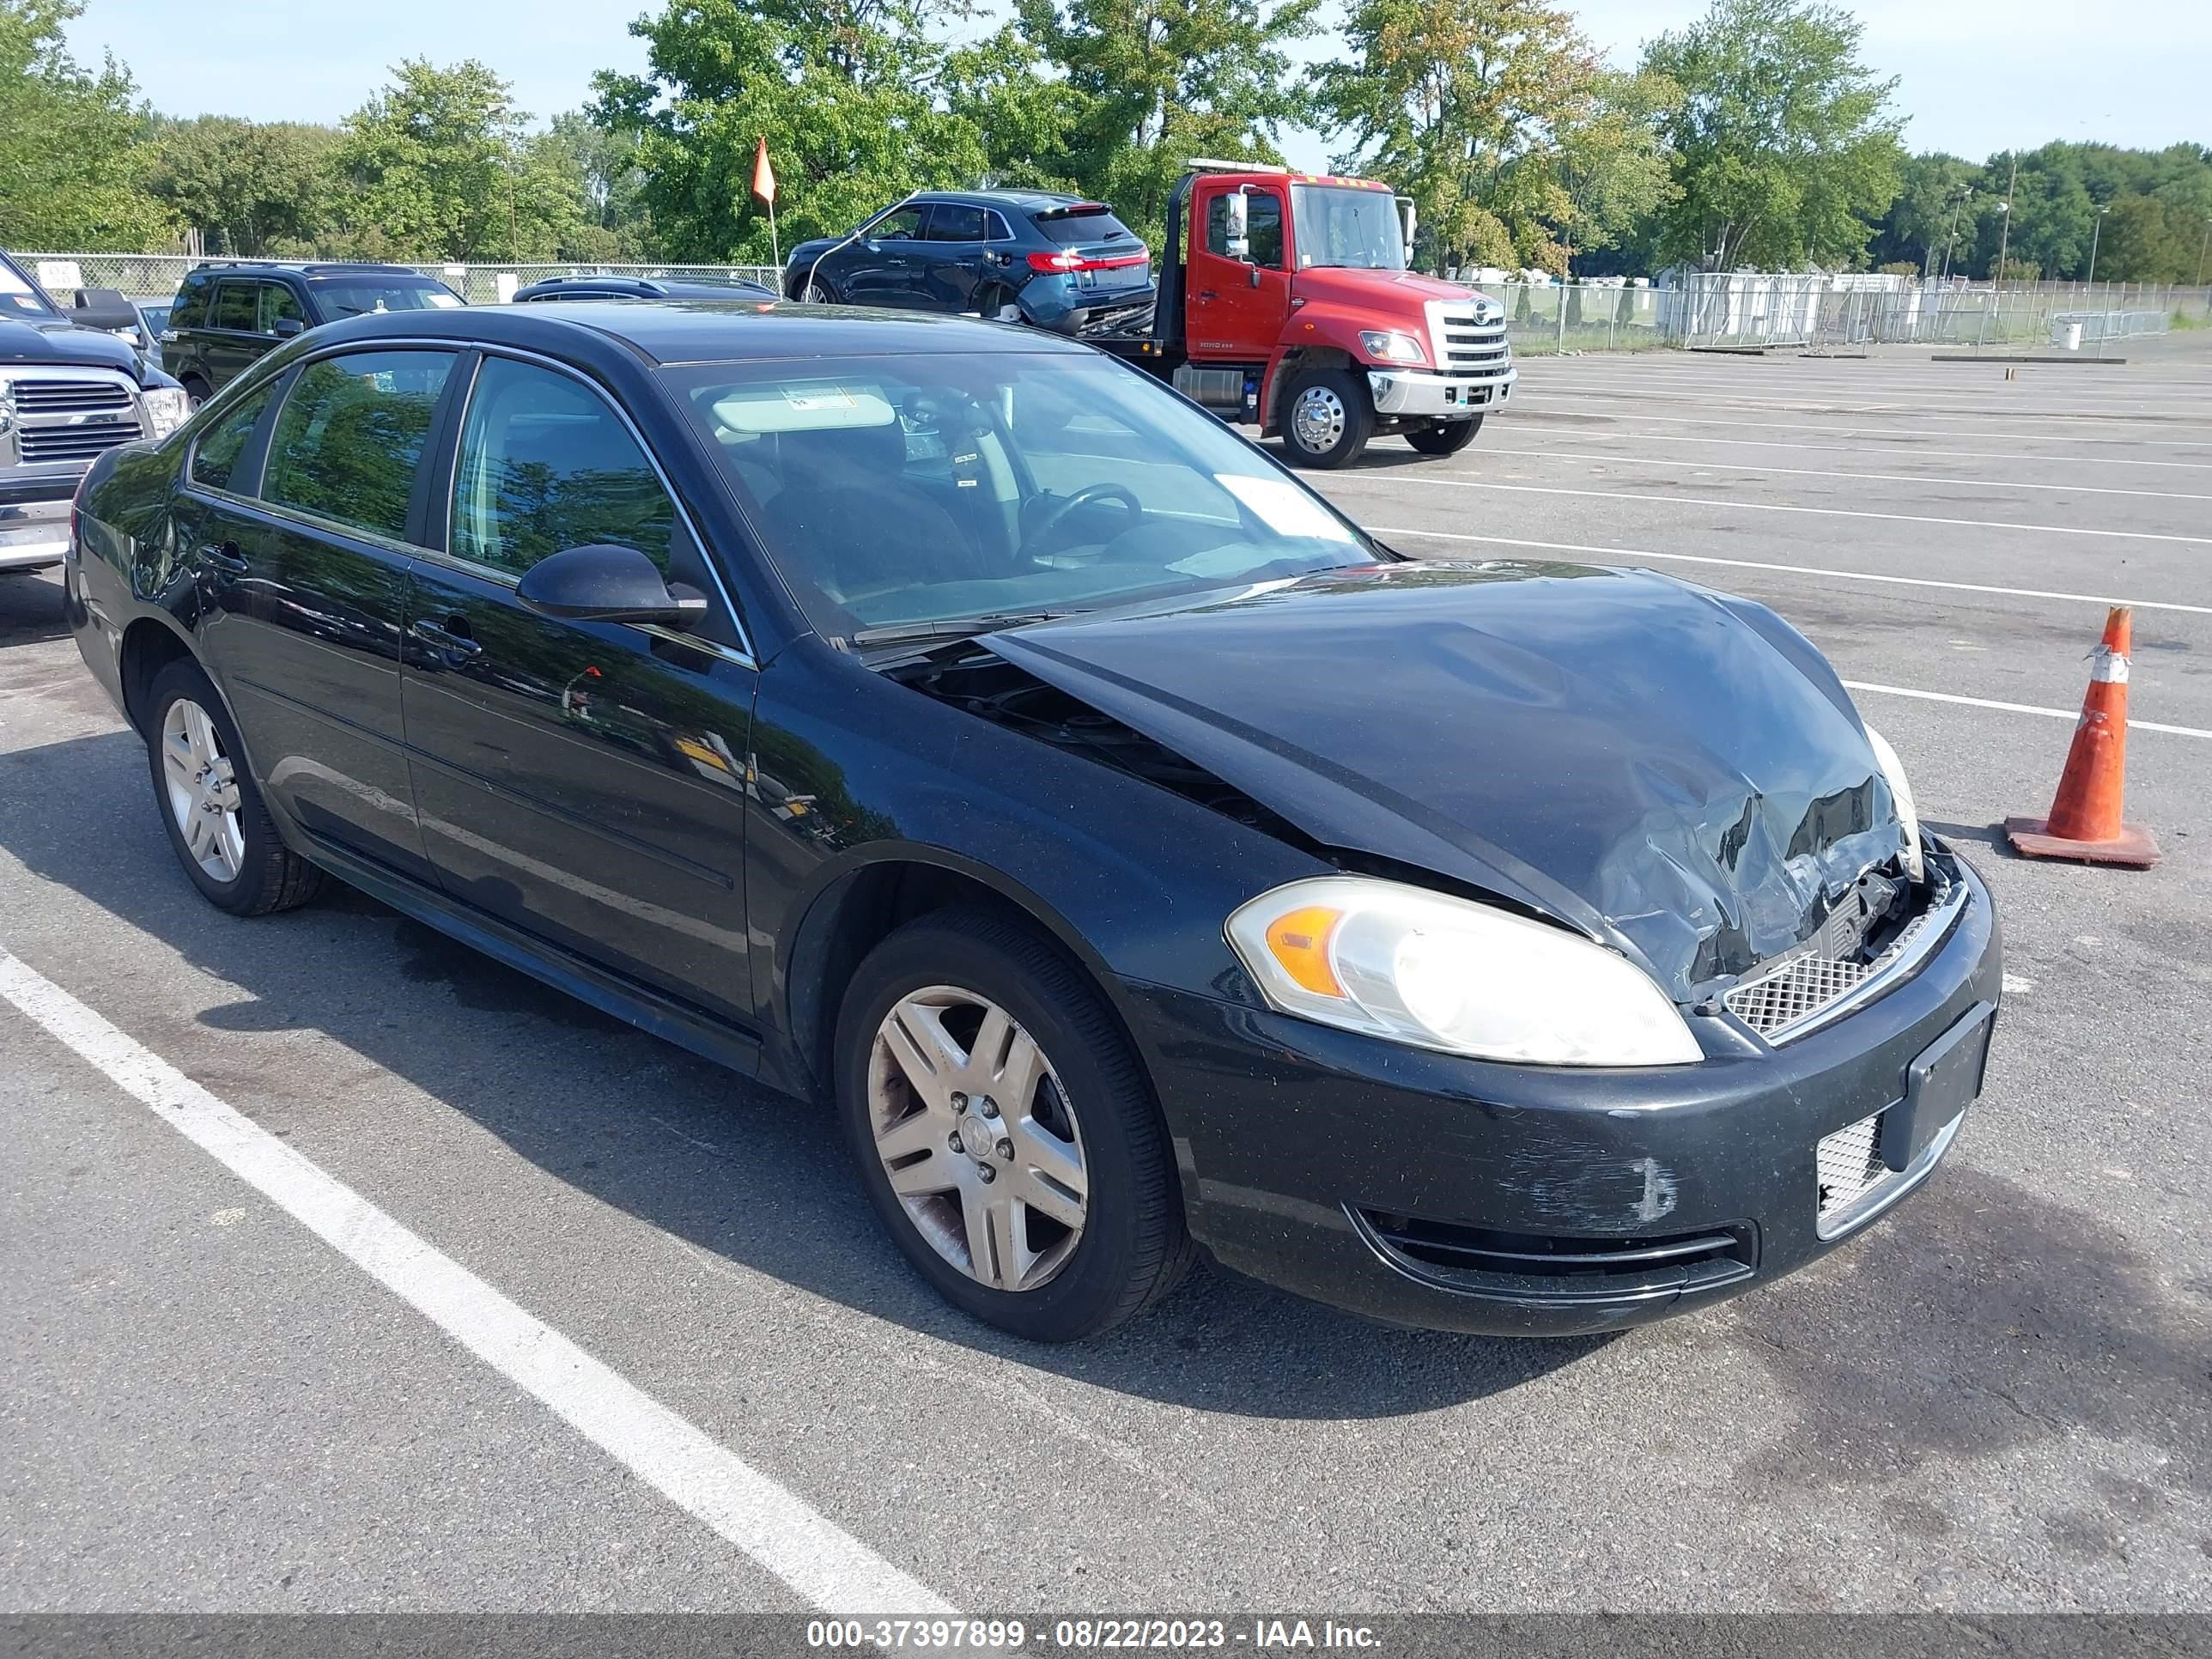
[[407,265],[195,265],[161,330],[161,363],[195,403],[281,341],[365,312],[422,312],[462,299]]

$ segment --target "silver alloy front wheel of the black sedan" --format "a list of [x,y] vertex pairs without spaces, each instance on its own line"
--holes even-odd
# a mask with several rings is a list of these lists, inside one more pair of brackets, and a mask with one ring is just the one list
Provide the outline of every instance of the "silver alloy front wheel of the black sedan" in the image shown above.
[[1037,1042],[989,998],[911,991],[876,1029],[869,1130],[891,1192],[945,1261],[989,1290],[1037,1290],[1084,1234],[1091,1172]]

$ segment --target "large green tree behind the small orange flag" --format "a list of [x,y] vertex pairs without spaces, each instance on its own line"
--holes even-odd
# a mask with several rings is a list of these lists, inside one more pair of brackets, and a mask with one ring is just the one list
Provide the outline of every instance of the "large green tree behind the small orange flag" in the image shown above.
[[602,73],[593,119],[630,135],[666,254],[768,261],[754,144],[776,170],[783,246],[841,234],[927,186],[987,170],[975,128],[936,100],[922,0],[670,0],[630,31],[644,75]]

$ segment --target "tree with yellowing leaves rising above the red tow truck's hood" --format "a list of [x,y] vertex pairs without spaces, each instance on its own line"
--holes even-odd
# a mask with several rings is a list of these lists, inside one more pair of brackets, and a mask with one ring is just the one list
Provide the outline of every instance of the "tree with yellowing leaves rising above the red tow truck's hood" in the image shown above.
[[1442,265],[1542,265],[1613,243],[1666,192],[1670,88],[1606,71],[1542,0],[1356,0],[1314,77],[1334,166],[1413,197]]

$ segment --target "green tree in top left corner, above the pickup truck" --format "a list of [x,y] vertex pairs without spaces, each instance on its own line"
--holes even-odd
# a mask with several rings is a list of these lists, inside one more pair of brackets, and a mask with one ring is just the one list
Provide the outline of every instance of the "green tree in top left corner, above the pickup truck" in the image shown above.
[[128,71],[80,66],[75,0],[0,0],[0,246],[153,248],[168,212],[139,188],[150,115]]

